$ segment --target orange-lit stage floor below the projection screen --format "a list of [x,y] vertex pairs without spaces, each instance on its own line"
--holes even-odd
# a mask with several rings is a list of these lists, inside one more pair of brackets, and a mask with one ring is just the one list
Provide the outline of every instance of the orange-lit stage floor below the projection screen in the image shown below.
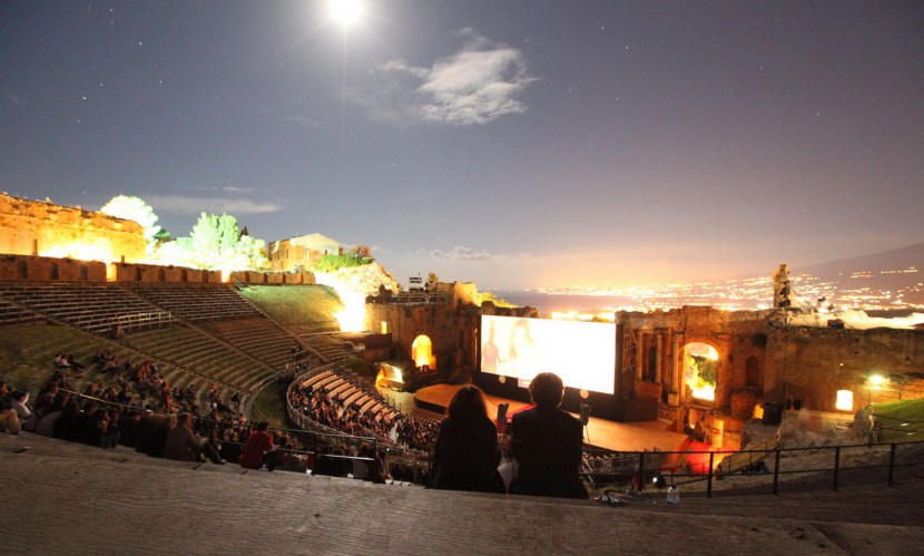
[[[414,396],[417,407],[431,411],[443,412],[460,386],[435,384],[421,388]],[[515,400],[484,396],[488,402],[488,416],[493,419],[498,414],[499,403],[509,403],[509,411],[515,411],[527,403]],[[572,413],[578,417],[576,413]],[[591,446],[598,446],[617,451],[642,451],[659,449],[661,451],[680,451],[686,449],[689,437],[667,430],[670,423],[663,421],[616,422],[591,417],[587,425],[584,440]]]

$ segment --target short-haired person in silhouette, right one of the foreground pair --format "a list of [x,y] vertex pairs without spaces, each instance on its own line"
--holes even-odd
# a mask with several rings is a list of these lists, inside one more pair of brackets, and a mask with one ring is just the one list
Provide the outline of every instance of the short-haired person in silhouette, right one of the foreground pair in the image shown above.
[[530,383],[535,407],[513,416],[513,457],[520,472],[513,492],[559,498],[587,498],[578,476],[583,432],[581,422],[558,407],[564,392],[561,379],[541,372]]

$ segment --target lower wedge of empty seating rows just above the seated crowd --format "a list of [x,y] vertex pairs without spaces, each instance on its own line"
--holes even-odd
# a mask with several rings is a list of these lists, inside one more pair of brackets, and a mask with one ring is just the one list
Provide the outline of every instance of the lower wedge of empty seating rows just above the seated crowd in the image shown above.
[[276,374],[273,368],[257,359],[188,326],[132,334],[125,342],[240,392],[247,392]]

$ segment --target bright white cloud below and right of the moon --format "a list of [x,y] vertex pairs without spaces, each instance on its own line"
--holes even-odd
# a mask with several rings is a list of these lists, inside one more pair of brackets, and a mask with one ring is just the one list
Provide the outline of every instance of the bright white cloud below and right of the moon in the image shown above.
[[471,29],[459,35],[465,45],[432,67],[393,59],[379,66],[372,84],[347,89],[345,96],[371,117],[400,125],[469,126],[525,111],[519,97],[535,78],[523,53]]

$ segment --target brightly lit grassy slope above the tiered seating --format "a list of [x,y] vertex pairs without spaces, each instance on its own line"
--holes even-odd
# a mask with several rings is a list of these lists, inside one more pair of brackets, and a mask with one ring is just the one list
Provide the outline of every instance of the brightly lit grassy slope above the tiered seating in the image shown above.
[[343,309],[340,297],[321,285],[256,285],[240,292],[252,303],[286,328],[336,329],[334,313]]

